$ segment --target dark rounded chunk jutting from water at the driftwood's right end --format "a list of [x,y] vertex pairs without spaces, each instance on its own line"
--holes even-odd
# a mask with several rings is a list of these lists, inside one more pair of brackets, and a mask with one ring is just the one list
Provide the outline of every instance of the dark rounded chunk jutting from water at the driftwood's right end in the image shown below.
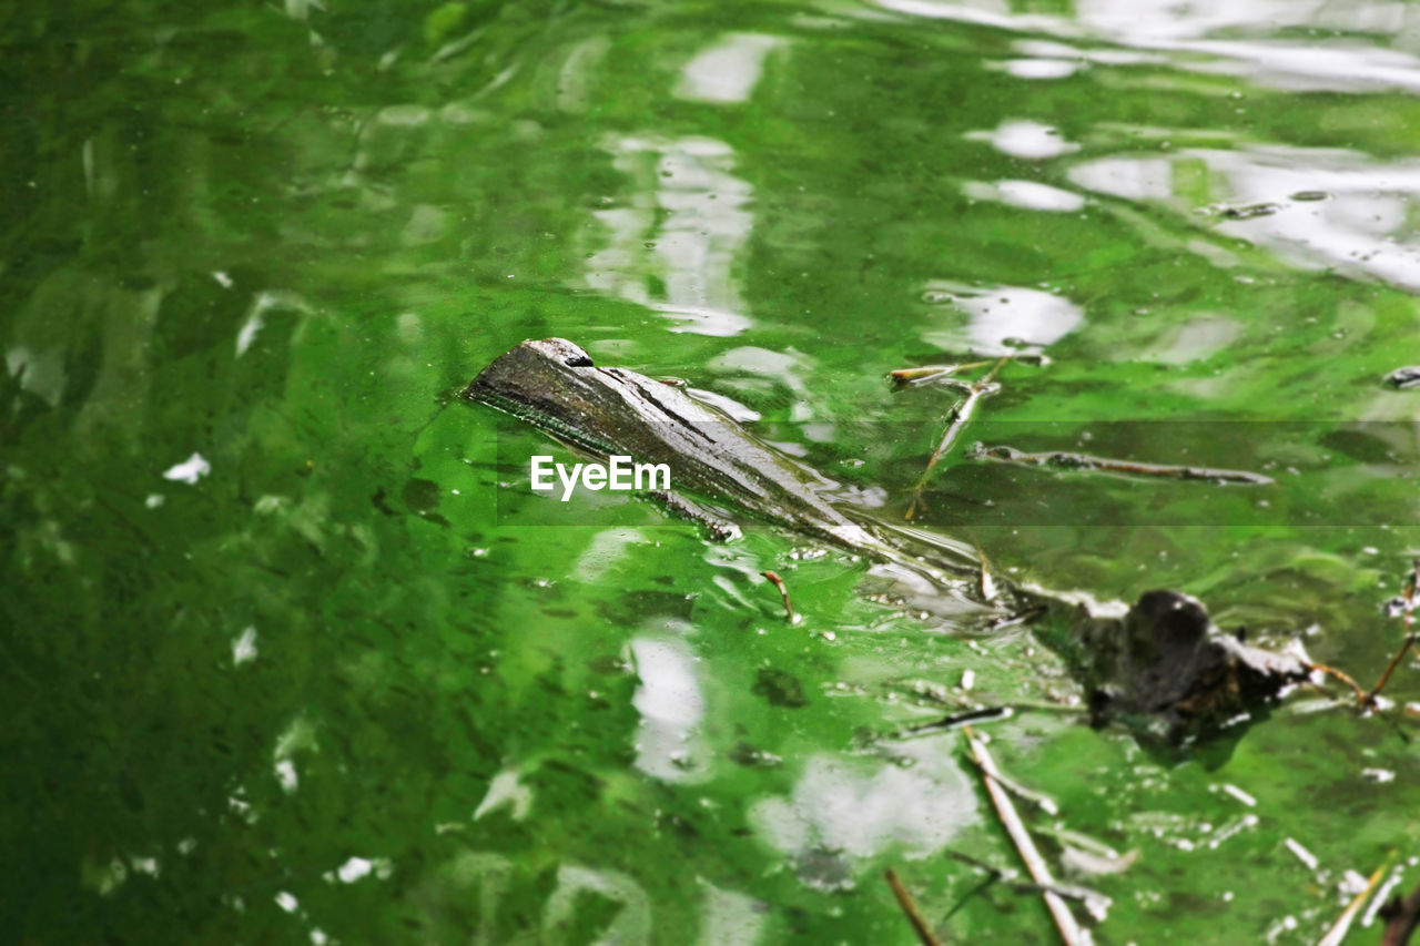
[[1095,722],[1137,720],[1172,743],[1216,732],[1311,673],[1301,656],[1220,631],[1177,591],[1146,591],[1123,618],[1085,622],[1078,646]]

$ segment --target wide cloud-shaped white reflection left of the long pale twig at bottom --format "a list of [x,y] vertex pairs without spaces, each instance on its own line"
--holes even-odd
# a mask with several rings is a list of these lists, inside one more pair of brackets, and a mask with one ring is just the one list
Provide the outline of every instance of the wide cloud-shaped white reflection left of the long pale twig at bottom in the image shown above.
[[750,810],[760,835],[784,854],[812,851],[869,858],[889,847],[932,854],[977,818],[971,783],[950,754],[930,743],[897,747],[910,767],[815,756],[788,798]]

